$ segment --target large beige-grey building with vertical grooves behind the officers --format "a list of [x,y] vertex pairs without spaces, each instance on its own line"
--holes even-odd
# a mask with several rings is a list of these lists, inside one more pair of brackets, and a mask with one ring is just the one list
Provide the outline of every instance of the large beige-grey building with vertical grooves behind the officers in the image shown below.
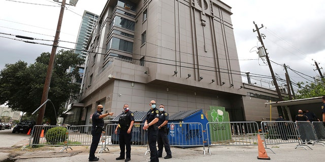
[[249,99],[231,15],[218,0],[107,1],[87,44],[81,117],[74,120],[89,124],[98,104],[115,114],[124,103],[147,111],[151,100],[170,114],[222,106],[231,121],[253,120],[244,111]]

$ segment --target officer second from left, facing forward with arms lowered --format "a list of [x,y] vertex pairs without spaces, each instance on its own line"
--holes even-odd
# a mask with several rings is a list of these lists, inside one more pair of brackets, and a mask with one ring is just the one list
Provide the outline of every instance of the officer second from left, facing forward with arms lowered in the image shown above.
[[126,159],[124,161],[131,160],[131,138],[132,128],[134,124],[134,115],[129,110],[128,104],[123,105],[123,112],[120,114],[118,119],[118,126],[115,129],[115,134],[119,130],[119,145],[120,145],[120,156],[116,157],[116,160],[124,159],[125,147],[126,146]]

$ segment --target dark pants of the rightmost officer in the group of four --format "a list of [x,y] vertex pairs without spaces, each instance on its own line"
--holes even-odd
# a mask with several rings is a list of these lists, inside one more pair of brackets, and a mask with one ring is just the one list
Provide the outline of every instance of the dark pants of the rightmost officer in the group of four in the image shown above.
[[165,129],[160,129],[158,131],[158,138],[157,138],[157,143],[158,143],[158,156],[163,155],[163,149],[165,146],[165,151],[167,155],[172,155],[171,147],[169,145],[169,139],[168,139],[168,132]]

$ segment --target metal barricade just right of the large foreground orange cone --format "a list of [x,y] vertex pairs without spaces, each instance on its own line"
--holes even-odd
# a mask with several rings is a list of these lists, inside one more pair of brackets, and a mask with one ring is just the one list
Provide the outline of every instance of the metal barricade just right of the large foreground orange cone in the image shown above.
[[298,143],[295,148],[305,148],[301,145],[296,124],[293,121],[262,121],[261,130],[264,136],[265,148],[270,149],[272,152],[273,150],[268,148],[268,145]]

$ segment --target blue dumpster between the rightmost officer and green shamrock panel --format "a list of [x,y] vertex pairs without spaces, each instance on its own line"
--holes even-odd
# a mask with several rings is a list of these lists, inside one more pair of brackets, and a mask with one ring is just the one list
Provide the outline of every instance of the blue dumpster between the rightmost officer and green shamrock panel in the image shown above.
[[202,109],[179,111],[170,115],[168,120],[170,145],[182,148],[196,147],[203,144],[207,146],[210,137],[208,134],[209,128],[206,128],[208,122]]

